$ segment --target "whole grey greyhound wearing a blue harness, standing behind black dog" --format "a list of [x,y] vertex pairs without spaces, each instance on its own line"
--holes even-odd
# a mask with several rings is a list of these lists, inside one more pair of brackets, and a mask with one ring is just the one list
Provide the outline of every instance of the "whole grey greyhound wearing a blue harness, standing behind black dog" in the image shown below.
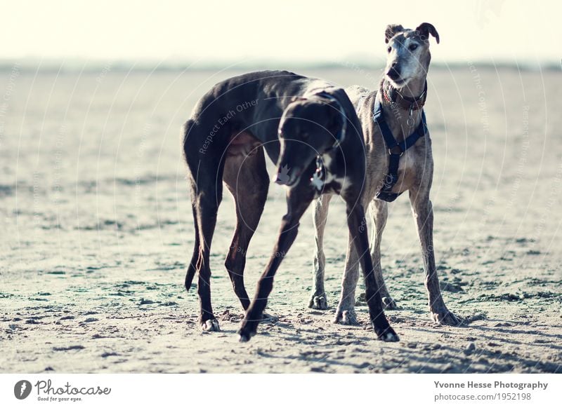
[[[439,43],[433,25],[424,22],[416,29],[388,25],[385,32],[387,63],[377,91],[358,86],[346,88],[358,110],[367,150],[367,185],[363,205],[371,205],[375,226],[371,257],[377,285],[384,306],[396,308],[388,294],[381,270],[381,236],[388,217],[388,202],[400,193],[410,193],[412,213],[417,225],[424,260],[425,285],[429,294],[429,311],[433,321],[458,325],[459,318],[445,306],[441,295],[433,254],[433,208],[429,193],[433,179],[431,139],[426,128],[423,106],[427,96],[426,75],[429,69],[429,36]],[[309,307],[326,309],[324,290],[325,254],[322,247],[330,196],[315,202],[316,252],[313,293]],[[355,288],[358,281],[358,254],[348,246],[341,298],[336,322],[357,324]]]

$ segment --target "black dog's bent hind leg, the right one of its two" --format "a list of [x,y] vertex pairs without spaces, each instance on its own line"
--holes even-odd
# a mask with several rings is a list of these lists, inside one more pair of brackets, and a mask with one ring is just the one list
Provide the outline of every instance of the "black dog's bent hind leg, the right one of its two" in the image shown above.
[[227,158],[223,179],[234,197],[236,207],[236,230],[226,255],[225,267],[245,311],[250,304],[244,288],[246,252],[259,224],[269,187],[263,147],[257,147],[247,158]]

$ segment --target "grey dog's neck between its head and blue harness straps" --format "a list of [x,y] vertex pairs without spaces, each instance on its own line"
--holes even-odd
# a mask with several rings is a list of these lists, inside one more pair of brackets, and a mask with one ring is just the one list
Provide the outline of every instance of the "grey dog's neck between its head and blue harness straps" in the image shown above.
[[[384,118],[388,126],[391,128],[392,133],[398,142],[405,140],[406,137],[410,136],[412,132],[419,125],[421,121],[421,106],[425,102],[424,93],[427,92],[426,89],[426,77],[412,79],[407,83],[407,86],[397,90],[391,83],[386,79],[382,79],[381,85],[379,86],[379,100],[381,101]],[[396,95],[398,93],[398,95]],[[393,95],[395,97],[393,98]],[[420,98],[420,95],[423,95]],[[411,100],[420,100],[419,109],[411,109],[407,107],[407,104],[400,104],[393,102],[396,100],[396,96],[405,97]]]

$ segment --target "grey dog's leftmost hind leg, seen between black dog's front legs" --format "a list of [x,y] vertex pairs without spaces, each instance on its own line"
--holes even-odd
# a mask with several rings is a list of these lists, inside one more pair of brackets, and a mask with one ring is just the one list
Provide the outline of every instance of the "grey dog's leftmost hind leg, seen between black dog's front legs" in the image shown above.
[[315,200],[313,213],[313,223],[316,229],[316,246],[314,252],[314,271],[312,274],[313,291],[311,300],[308,302],[308,307],[320,310],[326,310],[328,308],[326,292],[324,290],[324,273],[326,266],[326,257],[324,254],[324,231],[326,229],[330,198],[332,198],[331,195],[324,194]]

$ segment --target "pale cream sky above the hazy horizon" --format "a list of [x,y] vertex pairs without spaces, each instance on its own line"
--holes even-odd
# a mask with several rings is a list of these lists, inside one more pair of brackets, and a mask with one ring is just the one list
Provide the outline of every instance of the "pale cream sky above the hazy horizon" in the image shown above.
[[[84,4],[87,4],[84,6]],[[0,59],[285,60],[384,57],[389,23],[431,22],[437,61],[559,62],[558,1],[6,1]]]

